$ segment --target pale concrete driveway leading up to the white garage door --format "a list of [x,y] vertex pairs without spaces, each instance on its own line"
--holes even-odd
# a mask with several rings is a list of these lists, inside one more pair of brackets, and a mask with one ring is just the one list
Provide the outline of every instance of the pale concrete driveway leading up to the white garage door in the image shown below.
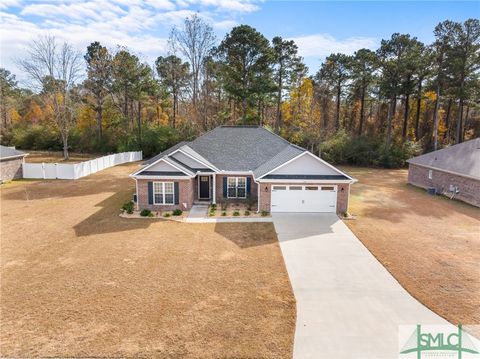
[[297,300],[294,358],[398,358],[399,325],[448,324],[334,214],[274,214]]

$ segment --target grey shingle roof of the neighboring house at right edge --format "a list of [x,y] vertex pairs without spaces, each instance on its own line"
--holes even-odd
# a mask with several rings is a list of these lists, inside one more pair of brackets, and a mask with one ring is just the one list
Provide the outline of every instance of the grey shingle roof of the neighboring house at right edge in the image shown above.
[[480,179],[480,137],[411,158],[407,162]]

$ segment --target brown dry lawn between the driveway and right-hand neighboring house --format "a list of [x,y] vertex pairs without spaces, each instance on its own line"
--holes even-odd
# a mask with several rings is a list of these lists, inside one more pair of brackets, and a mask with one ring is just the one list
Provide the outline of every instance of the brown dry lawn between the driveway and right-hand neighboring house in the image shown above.
[[343,170],[359,180],[347,226],[428,308],[480,324],[480,210],[408,185],[407,170]]

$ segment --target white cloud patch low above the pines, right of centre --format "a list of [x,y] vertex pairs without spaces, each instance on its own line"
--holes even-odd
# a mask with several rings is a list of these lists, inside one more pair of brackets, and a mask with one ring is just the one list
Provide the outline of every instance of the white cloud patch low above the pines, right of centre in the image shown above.
[[329,34],[298,36],[290,40],[295,41],[298,51],[303,57],[320,58],[337,52],[352,55],[359,49],[374,49],[378,45],[378,40],[371,37],[349,37],[339,40]]

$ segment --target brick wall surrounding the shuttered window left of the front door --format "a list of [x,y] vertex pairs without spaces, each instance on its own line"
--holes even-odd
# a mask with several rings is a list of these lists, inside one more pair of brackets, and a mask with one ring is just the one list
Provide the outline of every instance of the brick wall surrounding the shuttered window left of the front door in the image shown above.
[[[139,179],[138,185],[138,208],[149,209],[151,211],[172,211],[174,209],[181,209],[182,211],[189,210],[193,205],[194,194],[196,193],[195,182],[191,179],[186,180],[162,180],[158,182],[178,182],[178,202],[173,205],[153,205],[148,204],[148,182],[155,182],[153,180]],[[186,206],[184,206],[184,203]]]

